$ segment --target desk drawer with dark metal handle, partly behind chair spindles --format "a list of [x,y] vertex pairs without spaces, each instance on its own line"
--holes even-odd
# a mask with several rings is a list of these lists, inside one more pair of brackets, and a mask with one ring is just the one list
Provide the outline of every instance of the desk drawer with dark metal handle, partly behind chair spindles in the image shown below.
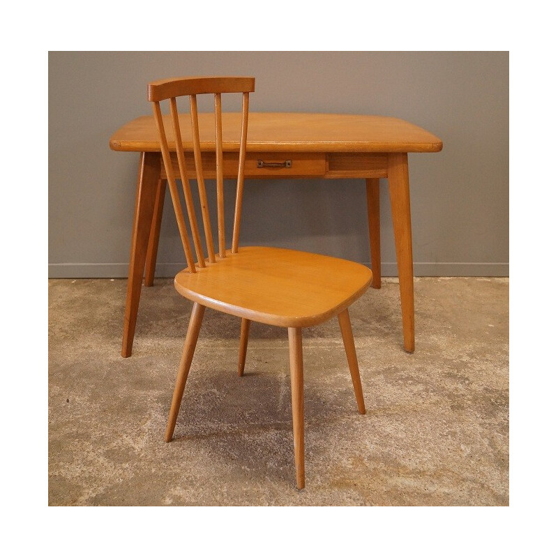
[[[193,153],[184,153],[188,178],[195,179]],[[176,153],[171,153],[174,176],[180,178],[179,164]],[[215,179],[215,153],[202,153],[204,178]],[[223,153],[223,175],[225,178],[236,178],[239,170],[239,153]],[[302,178],[305,176],[324,176],[326,174],[326,156],[324,153],[246,153],[244,176],[246,178]],[[165,169],[161,169],[161,177],[167,178]]]

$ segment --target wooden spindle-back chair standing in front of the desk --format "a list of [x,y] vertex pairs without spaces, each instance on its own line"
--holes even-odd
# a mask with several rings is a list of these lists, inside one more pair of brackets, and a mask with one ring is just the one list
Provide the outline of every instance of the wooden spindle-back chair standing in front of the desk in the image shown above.
[[[364,399],[356,361],[354,339],[347,308],[370,285],[372,273],[367,267],[344,259],[311,254],[282,248],[240,247],[239,226],[243,195],[243,167],[246,158],[248,131],[248,98],[254,91],[252,77],[180,77],[149,84],[148,98],[153,103],[158,126],[160,149],[163,154],[169,190],[179,225],[188,267],[174,279],[176,290],[194,306],[186,334],[186,342],[176,378],[165,441],[170,442],[176,425],[186,378],[206,307],[241,318],[239,376],[243,375],[250,322],[262,322],[288,329],[289,360],[292,390],[292,417],[294,432],[294,460],[296,487],[304,488],[304,403],[302,328],[322,323],[337,316],[345,352],[349,361],[356,404],[365,413]],[[217,185],[218,245],[213,245],[211,223],[204,186],[202,146],[199,140],[197,96],[212,93],[215,104],[215,151]],[[234,145],[223,143],[221,118],[222,93],[242,93],[242,112],[239,115],[239,140]],[[190,97],[190,117],[179,114],[176,98]],[[163,116],[160,101],[169,100],[170,114]],[[184,129],[185,126],[190,130]],[[182,128],[182,129],[181,129]],[[191,134],[191,135],[190,135]],[[184,138],[184,140],[183,140]],[[181,147],[182,146],[182,147]],[[213,142],[212,146],[213,147]],[[223,201],[223,150],[239,150],[238,181],[232,248],[225,249],[225,216]],[[188,182],[186,159],[193,150],[195,173],[202,206],[202,221],[206,252],[202,250],[193,196]],[[185,156],[184,152],[187,152]],[[175,153],[176,152],[176,153]],[[190,246],[186,221],[183,216],[179,190],[174,174],[178,168],[186,202]],[[213,175],[212,175],[213,176]]]

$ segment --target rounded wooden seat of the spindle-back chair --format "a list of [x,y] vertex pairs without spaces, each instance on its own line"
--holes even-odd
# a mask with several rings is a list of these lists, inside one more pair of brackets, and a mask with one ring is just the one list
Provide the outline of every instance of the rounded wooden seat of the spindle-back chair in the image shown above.
[[174,287],[186,299],[274,326],[306,327],[345,310],[372,280],[368,267],[324,255],[250,246],[215,264],[184,269]]

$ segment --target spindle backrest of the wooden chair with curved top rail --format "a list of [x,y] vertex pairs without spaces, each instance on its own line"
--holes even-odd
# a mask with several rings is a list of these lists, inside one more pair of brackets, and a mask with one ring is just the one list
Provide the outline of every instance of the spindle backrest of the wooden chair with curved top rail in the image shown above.
[[[216,249],[213,245],[213,234],[211,232],[211,220],[207,204],[207,195],[204,184],[204,169],[202,167],[202,149],[199,140],[199,119],[197,111],[197,95],[206,93],[214,96],[215,113],[215,154],[216,154],[216,184],[217,184],[217,221],[218,221],[218,255],[225,257],[225,202],[223,195],[223,115],[221,112],[222,93],[242,93],[242,113],[239,122],[239,168],[236,180],[236,201],[234,206],[234,226],[232,233],[231,252],[236,253],[239,249],[240,219],[242,211],[242,193],[244,182],[244,161],[246,159],[246,138],[248,135],[248,98],[255,89],[254,77],[175,77],[168,80],[151,82],[147,89],[147,98],[153,103],[153,114],[155,116],[159,133],[160,149],[165,164],[165,172],[169,183],[169,190],[172,197],[172,205],[176,215],[176,223],[179,226],[182,246],[188,270],[190,273],[196,272],[196,264],[205,267],[205,257],[202,250],[202,242],[199,236],[193,197],[188,180],[188,170],[186,168],[185,150],[193,150],[195,161],[195,174],[197,178],[197,188],[199,192],[199,202],[202,206],[202,220],[204,225],[204,236],[206,241],[207,259],[209,262],[216,262]],[[187,126],[186,115],[180,115],[176,104],[176,98],[190,97],[190,126],[191,140],[183,141],[186,133],[183,134],[181,126]],[[163,116],[160,102],[169,100],[170,114]],[[171,133],[172,130],[172,133]],[[186,132],[186,130],[184,130]],[[195,262],[186,221],[183,216],[179,191],[176,187],[174,174],[176,170],[173,166],[172,151],[176,151],[178,160],[179,174],[182,182],[190,232],[194,241]]]

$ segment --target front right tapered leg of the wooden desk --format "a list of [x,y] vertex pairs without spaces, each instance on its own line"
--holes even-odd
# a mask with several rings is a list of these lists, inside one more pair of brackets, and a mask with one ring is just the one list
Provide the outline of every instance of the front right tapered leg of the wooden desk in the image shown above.
[[412,353],[414,351],[413,244],[407,153],[389,153],[388,181],[399,273],[403,345],[407,352]]

